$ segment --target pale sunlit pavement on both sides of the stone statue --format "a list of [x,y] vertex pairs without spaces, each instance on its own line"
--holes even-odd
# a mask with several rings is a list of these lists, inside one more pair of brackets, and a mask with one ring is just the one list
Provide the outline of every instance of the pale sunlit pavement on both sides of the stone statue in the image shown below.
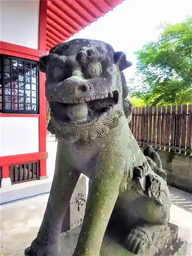
[[[52,140],[52,141],[51,141]],[[57,142],[47,143],[48,175],[53,176]],[[187,256],[192,256],[192,195],[170,187],[173,200],[170,222],[179,226],[179,236],[188,241]],[[21,255],[35,238],[49,195],[1,206],[1,248],[4,256]]]

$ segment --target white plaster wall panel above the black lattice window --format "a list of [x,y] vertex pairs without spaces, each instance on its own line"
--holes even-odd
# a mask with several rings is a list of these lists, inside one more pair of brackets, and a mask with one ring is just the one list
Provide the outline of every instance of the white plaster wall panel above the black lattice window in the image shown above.
[[1,40],[38,49],[39,0],[0,0]]

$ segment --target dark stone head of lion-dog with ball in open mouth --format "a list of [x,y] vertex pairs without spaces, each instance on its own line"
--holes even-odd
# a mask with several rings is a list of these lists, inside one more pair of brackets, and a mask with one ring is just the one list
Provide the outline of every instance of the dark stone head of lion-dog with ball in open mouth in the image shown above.
[[87,127],[123,108],[122,71],[131,65],[123,52],[102,41],[74,39],[55,46],[39,62],[52,119]]

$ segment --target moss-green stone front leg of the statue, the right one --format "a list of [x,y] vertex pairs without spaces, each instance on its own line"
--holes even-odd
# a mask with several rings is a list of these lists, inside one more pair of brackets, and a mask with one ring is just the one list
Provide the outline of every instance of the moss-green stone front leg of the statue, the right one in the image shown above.
[[106,226],[119,195],[124,174],[123,163],[120,157],[117,159],[114,162],[110,157],[104,158],[103,166],[97,169],[73,256],[99,256]]

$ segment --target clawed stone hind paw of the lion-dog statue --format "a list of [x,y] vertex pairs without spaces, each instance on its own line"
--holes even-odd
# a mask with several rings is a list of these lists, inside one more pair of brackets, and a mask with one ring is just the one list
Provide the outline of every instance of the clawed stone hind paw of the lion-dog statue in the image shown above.
[[150,240],[147,234],[140,229],[133,229],[126,237],[126,249],[135,254],[145,253],[149,245]]

